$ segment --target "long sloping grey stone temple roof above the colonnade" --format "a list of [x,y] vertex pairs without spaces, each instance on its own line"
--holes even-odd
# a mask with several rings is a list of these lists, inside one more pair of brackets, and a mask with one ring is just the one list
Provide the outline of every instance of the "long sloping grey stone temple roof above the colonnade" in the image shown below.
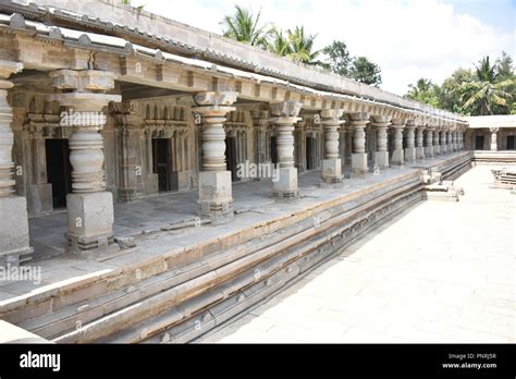
[[[466,122],[459,114],[439,110],[380,88],[335,75],[321,69],[292,62],[259,48],[185,25],[116,1],[4,0],[1,24],[34,29],[49,38],[64,38],[79,45],[137,51],[205,70],[223,72],[256,81],[287,84],[307,91],[340,94],[365,101],[391,106],[416,113]],[[8,19],[7,19],[8,17]],[[19,20],[19,21],[16,21]],[[32,20],[33,22],[30,22]],[[13,25],[14,24],[14,25]]]

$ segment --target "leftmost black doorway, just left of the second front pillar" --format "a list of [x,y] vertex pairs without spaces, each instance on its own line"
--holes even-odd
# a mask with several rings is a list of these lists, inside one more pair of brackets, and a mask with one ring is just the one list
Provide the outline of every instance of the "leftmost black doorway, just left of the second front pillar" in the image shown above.
[[66,207],[66,195],[72,192],[72,166],[67,139],[46,139],[47,183],[52,185],[53,208]]

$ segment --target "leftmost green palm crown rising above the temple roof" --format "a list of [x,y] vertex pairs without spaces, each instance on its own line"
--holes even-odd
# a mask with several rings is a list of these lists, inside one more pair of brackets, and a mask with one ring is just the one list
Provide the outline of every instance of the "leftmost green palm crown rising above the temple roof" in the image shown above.
[[234,15],[224,16],[224,20],[221,22],[225,26],[223,30],[224,37],[266,48],[272,28],[268,25],[259,26],[261,11],[255,16],[250,10],[239,5],[235,5],[235,9]]

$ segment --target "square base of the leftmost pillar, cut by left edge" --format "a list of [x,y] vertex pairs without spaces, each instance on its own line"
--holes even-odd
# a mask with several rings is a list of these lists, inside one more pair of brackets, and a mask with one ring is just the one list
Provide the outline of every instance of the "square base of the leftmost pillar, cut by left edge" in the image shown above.
[[0,197],[0,266],[29,260],[27,201],[23,196]]

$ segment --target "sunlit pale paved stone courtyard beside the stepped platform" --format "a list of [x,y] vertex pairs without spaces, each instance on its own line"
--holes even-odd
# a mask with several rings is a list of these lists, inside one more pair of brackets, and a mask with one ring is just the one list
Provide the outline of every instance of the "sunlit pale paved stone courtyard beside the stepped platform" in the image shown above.
[[[516,196],[477,167],[200,342],[516,342]],[[429,228],[429,225],[431,225]]]

